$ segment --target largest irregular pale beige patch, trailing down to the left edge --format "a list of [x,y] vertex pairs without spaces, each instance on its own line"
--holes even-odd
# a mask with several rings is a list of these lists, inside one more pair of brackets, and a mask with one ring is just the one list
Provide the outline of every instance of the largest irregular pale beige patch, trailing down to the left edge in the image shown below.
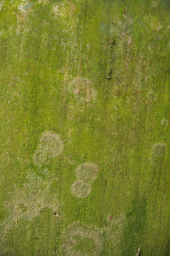
[[[47,170],[44,172],[47,174]],[[8,192],[6,208],[9,211],[8,218],[4,219],[0,225],[0,231],[4,241],[9,230],[17,226],[21,219],[33,220],[40,214],[40,211],[49,207],[56,211],[59,208],[57,194],[50,194],[52,177],[48,173],[48,180],[43,181],[33,170],[27,171],[27,182],[23,187],[15,186]]]

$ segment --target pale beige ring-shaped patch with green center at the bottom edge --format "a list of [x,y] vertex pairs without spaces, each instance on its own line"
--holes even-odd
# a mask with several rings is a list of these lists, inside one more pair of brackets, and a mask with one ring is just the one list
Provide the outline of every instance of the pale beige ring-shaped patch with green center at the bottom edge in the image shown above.
[[63,232],[61,249],[64,255],[97,256],[102,248],[102,231],[96,227],[73,223]]

